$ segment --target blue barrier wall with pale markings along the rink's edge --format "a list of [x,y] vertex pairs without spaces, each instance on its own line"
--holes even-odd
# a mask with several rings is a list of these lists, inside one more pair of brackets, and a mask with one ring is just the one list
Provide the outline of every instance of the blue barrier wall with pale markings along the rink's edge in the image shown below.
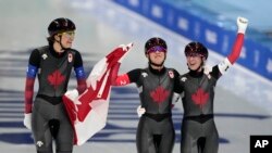
[[[227,55],[232,50],[236,37],[235,28],[224,28],[208,22],[178,2],[173,5],[161,0],[112,1],[184,37],[200,41],[222,55]],[[251,72],[272,80],[272,50],[247,35],[242,55],[237,62]]]

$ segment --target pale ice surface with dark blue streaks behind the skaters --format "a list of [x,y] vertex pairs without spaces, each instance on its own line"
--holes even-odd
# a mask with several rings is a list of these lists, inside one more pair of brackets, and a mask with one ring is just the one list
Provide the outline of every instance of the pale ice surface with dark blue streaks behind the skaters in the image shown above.
[[[23,126],[25,72],[30,51],[47,44],[47,27],[57,17],[76,24],[73,48],[83,54],[87,73],[96,62],[121,43],[134,42],[121,72],[147,66],[145,41],[153,36],[169,44],[165,65],[181,74],[187,72],[183,50],[190,40],[170,31],[109,0],[1,0],[0,1],[0,152],[35,151],[30,131]],[[208,64],[223,56],[210,51]],[[37,85],[37,81],[36,81]],[[75,87],[72,79],[70,88]],[[37,87],[35,88],[37,89]],[[272,82],[234,65],[218,82],[214,100],[220,153],[249,153],[252,135],[272,135]],[[113,88],[108,124],[74,153],[136,153],[136,128],[139,104],[135,85]],[[180,127],[183,107],[173,109],[180,153]]]

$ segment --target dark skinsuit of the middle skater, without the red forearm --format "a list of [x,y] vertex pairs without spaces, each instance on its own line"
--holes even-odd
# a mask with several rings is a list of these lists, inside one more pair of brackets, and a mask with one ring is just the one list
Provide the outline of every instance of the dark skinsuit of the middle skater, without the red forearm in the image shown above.
[[134,69],[128,74],[131,82],[136,82],[141,107],[146,113],[137,128],[138,153],[171,153],[175,132],[172,122],[172,95],[178,92],[178,73],[173,68],[160,72],[150,66]]

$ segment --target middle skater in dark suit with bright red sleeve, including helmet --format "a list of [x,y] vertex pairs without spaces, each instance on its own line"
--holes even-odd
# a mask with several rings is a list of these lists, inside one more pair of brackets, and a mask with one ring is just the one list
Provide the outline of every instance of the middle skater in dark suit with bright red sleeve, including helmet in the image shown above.
[[145,44],[148,67],[136,68],[120,76],[120,65],[113,67],[112,85],[135,82],[140,99],[139,110],[145,110],[141,112],[136,135],[138,153],[171,153],[174,146],[175,132],[171,110],[174,92],[181,93],[180,74],[163,65],[166,49],[163,39],[150,38]]

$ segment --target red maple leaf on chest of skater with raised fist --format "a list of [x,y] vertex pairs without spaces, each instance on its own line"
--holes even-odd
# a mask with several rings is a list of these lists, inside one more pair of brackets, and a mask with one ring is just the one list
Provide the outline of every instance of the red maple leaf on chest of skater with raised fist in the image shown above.
[[191,99],[195,102],[195,104],[202,107],[207,103],[207,101],[209,99],[209,93],[205,92],[203,89],[198,88],[196,93],[191,94]]

